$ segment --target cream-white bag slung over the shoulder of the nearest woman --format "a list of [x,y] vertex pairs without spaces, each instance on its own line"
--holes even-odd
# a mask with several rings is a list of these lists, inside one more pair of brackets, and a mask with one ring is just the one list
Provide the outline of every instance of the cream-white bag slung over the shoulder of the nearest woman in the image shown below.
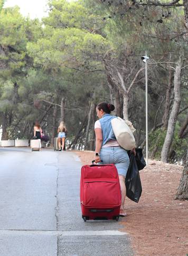
[[[133,127],[131,122],[128,121],[128,124],[131,124],[131,126]],[[116,136],[116,140],[122,148],[126,150],[131,150],[135,148],[135,137],[133,135],[133,132],[131,132],[131,129],[129,128],[130,125],[128,126],[126,124],[126,121],[124,121],[120,117],[113,118],[111,120],[111,126]]]

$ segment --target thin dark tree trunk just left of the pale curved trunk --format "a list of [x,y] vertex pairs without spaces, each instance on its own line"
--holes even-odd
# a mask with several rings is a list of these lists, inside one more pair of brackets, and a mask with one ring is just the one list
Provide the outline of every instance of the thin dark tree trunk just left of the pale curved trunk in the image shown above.
[[163,116],[163,123],[164,123],[163,126],[165,130],[167,130],[167,126],[168,126],[172,83],[173,83],[173,71],[170,69],[168,73],[168,88],[166,90],[165,111]]

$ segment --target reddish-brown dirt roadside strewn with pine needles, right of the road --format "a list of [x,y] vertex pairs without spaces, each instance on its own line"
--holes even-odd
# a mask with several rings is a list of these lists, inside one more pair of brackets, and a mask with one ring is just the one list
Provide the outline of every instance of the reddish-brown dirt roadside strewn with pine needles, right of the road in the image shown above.
[[[82,164],[91,164],[92,151],[76,151]],[[143,192],[139,203],[127,198],[123,231],[131,236],[136,255],[188,254],[188,201],[174,200],[183,168],[149,160],[140,171]]]

